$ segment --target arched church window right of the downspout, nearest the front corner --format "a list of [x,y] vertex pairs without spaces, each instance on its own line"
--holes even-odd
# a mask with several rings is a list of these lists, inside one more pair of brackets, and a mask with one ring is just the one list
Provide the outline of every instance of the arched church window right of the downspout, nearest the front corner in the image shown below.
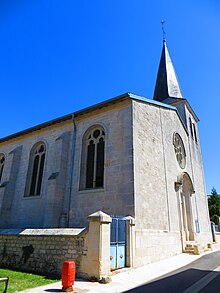
[[[104,182],[105,132],[101,127],[93,128],[84,139],[82,168],[84,188],[100,188]],[[82,180],[82,179],[81,179]]]

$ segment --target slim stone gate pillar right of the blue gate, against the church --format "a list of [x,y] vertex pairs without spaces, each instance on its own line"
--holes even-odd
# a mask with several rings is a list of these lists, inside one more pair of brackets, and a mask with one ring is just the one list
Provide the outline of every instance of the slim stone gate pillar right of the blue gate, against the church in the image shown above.
[[126,217],[126,266],[134,266],[135,254],[135,219]]

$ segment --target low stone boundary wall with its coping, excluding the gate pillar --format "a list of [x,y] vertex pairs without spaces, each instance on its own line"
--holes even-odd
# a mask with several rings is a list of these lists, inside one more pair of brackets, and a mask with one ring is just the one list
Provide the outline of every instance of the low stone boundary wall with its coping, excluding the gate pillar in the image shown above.
[[87,256],[83,229],[0,231],[0,266],[40,274],[60,275],[64,260],[80,263]]

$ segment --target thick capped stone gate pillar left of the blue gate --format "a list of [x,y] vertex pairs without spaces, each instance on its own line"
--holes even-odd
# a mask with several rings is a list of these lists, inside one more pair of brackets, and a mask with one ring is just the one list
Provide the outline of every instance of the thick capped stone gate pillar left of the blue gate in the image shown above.
[[101,280],[110,275],[110,223],[111,217],[101,211],[88,216],[88,254],[85,273]]

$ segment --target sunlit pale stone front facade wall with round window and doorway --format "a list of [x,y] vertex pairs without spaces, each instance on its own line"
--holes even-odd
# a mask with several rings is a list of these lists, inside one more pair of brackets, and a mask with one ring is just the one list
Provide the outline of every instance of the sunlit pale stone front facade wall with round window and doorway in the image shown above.
[[[176,159],[174,133],[181,136],[185,146],[184,169]],[[182,227],[181,215],[183,204],[180,191],[175,188],[175,182],[182,174],[188,174],[194,187],[193,192],[189,193],[189,222],[195,241],[205,247],[211,241],[211,234],[199,145],[194,146],[197,153],[193,154],[188,132],[175,109],[133,101],[133,141],[135,266],[170,257],[185,249],[186,237],[183,234],[186,229]],[[198,233],[196,222],[200,223]]]

